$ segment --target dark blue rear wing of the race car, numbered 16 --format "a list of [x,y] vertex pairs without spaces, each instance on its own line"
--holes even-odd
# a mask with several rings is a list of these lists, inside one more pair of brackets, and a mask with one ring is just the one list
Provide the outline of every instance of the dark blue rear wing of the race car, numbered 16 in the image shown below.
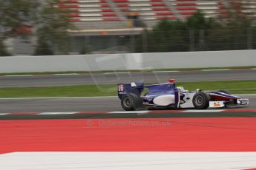
[[135,94],[140,97],[141,92],[144,89],[143,83],[125,83],[125,84],[117,84],[117,92],[118,98],[122,99],[124,95]]

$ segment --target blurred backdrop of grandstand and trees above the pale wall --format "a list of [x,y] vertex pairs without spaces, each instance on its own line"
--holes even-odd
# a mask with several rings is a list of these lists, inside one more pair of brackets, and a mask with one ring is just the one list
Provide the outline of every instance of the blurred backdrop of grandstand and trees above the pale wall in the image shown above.
[[0,1],[0,56],[256,49],[255,0]]

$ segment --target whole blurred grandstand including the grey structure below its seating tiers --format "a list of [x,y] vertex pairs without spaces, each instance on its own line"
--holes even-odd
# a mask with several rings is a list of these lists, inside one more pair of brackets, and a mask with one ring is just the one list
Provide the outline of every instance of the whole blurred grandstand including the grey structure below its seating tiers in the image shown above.
[[240,7],[237,12],[256,16],[255,0],[60,0],[56,7],[76,26],[70,32],[77,52],[81,44],[88,44],[91,51],[122,46],[125,38],[132,46],[134,35],[163,18],[184,20],[197,10],[208,18],[219,18],[235,5]]

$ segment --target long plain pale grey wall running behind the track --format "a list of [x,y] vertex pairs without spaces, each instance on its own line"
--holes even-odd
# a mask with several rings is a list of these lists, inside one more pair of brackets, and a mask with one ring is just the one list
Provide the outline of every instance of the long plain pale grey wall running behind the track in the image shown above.
[[256,50],[0,57],[0,72],[256,66]]

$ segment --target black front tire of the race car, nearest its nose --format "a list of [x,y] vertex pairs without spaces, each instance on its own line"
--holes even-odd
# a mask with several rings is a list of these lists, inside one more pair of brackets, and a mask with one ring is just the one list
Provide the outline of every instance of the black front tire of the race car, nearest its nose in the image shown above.
[[209,107],[210,96],[204,92],[198,92],[193,97],[193,105],[196,109],[207,109]]

